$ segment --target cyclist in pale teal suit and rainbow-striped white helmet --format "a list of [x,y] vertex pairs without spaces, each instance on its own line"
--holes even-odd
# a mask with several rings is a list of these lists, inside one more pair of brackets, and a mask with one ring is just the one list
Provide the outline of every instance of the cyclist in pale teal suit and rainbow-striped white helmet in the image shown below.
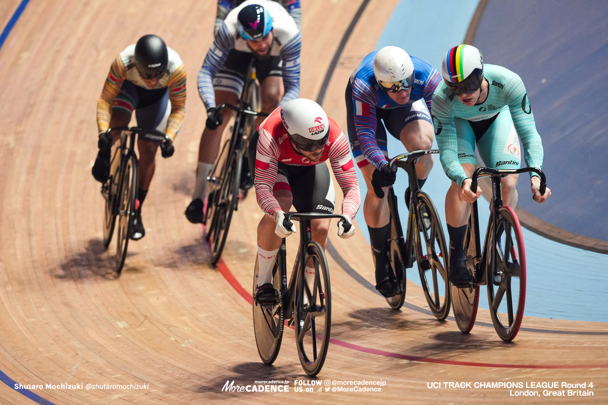
[[[450,236],[449,281],[465,285],[473,281],[466,269],[466,224],[470,203],[481,196],[471,191],[471,175],[477,167],[475,145],[486,167],[517,169],[525,151],[528,166],[542,168],[541,137],[521,78],[502,66],[483,64],[482,53],[470,45],[448,50],[441,65],[443,81],[433,95],[433,125],[440,160],[452,185],[446,195],[446,222]],[[519,137],[518,137],[519,135]],[[523,150],[519,140],[523,144]],[[501,182],[505,205],[517,205],[517,174]],[[541,180],[531,173],[534,201],[545,202]]]

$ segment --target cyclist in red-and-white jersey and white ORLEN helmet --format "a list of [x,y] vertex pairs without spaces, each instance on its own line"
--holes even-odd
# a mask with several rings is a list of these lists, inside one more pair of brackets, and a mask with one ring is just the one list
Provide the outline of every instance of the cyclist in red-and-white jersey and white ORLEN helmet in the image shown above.
[[[342,214],[351,222],[359,210],[361,194],[344,132],[336,121],[312,100],[297,98],[278,107],[261,123],[249,144],[249,155],[255,154],[255,195],[266,214],[258,225],[258,291],[261,302],[272,302],[272,267],[281,239],[291,235],[293,223],[283,226],[291,205],[299,212],[333,213],[335,192],[326,160],[342,188]],[[252,159],[253,160],[253,159]],[[331,219],[311,221],[312,238],[325,249]],[[354,226],[345,233],[344,220],[338,222],[338,235],[347,239]],[[308,282],[314,267],[306,265]]]

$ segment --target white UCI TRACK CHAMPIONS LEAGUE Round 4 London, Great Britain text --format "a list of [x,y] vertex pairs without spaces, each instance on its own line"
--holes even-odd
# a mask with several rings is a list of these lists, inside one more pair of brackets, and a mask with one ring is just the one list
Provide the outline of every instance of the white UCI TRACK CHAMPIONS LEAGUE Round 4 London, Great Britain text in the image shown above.
[[428,381],[429,389],[503,389],[509,396],[593,396],[593,382],[567,383],[565,381]]

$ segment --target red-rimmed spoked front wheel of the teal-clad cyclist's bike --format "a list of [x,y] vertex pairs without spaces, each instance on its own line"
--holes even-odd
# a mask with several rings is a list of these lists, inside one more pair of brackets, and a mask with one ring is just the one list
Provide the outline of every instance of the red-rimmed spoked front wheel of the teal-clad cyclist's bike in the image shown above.
[[488,302],[496,333],[503,341],[510,342],[519,332],[523,319],[526,300],[526,254],[522,228],[513,209],[501,206],[496,225],[498,231],[492,249],[492,263],[486,270]]

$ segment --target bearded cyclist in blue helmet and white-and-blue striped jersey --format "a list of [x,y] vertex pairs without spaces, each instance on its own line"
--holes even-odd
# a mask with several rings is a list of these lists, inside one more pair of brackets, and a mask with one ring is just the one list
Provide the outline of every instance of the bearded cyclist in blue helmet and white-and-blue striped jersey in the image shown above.
[[[198,73],[198,91],[207,109],[206,128],[198,150],[196,183],[185,216],[202,223],[207,176],[219,152],[224,128],[234,112],[216,111],[219,104],[237,105],[245,75],[253,61],[260,82],[261,110],[271,113],[300,94],[302,35],[287,10],[272,0],[247,0],[233,9],[215,35]],[[255,122],[257,127],[262,118]],[[244,159],[243,168],[249,168]],[[249,173],[241,175],[241,188],[254,185]]]

